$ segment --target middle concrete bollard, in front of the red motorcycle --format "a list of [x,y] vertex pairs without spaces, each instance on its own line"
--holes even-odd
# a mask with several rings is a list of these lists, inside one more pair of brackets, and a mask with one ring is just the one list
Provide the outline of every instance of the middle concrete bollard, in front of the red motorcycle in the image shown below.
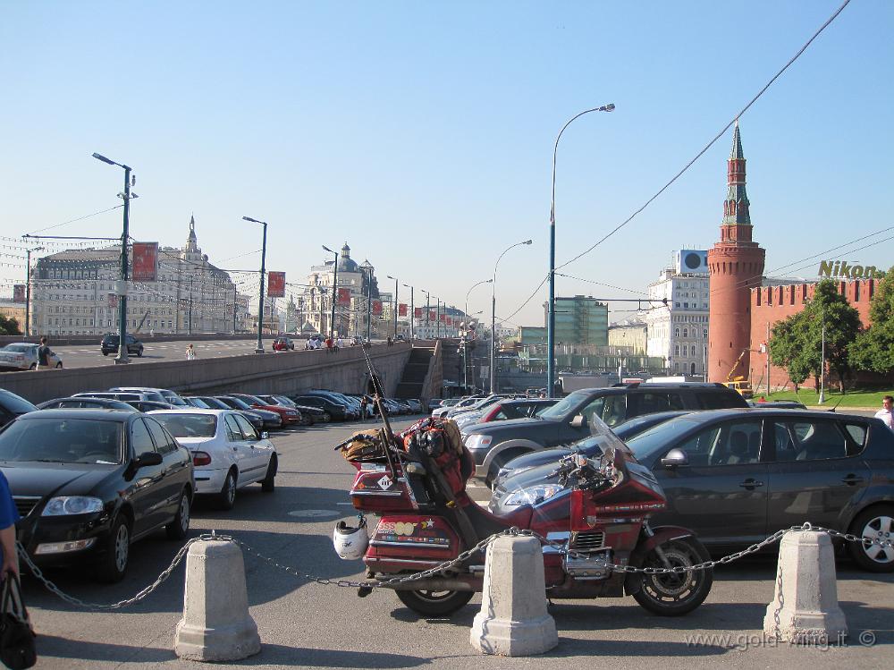
[[468,640],[485,654],[531,656],[559,644],[546,612],[544,555],[536,538],[502,537],[487,546],[485,590]]

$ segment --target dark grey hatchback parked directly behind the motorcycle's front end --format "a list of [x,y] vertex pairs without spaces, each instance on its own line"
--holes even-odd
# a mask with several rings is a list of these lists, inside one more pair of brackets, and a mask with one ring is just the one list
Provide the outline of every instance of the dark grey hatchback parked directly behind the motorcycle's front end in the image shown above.
[[[655,524],[695,530],[713,553],[804,522],[866,540],[894,536],[894,433],[881,420],[805,410],[701,411],[627,445],[668,497]],[[504,481],[491,511],[509,512],[538,495],[551,469]],[[890,547],[849,542],[848,552],[865,570],[894,572]]]

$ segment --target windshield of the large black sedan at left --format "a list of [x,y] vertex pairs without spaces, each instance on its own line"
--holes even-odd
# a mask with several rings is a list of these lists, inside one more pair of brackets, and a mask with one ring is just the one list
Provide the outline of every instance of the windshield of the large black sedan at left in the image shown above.
[[0,461],[120,463],[122,427],[99,419],[17,420],[0,433]]

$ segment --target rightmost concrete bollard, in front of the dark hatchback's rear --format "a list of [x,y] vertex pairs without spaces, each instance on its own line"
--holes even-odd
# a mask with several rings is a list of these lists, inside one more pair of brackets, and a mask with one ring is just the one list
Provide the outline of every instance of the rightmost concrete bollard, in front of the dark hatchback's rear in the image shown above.
[[835,644],[848,636],[827,533],[801,530],[782,537],[776,594],[763,618],[763,632],[793,644]]

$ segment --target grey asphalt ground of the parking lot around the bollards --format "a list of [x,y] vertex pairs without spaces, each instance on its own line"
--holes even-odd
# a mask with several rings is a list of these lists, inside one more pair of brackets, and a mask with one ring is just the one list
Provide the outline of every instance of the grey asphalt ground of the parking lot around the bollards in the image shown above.
[[[395,427],[409,421],[395,422]],[[367,422],[367,426],[373,422]],[[299,428],[274,434],[280,471],[274,493],[258,485],[240,490],[230,512],[199,501],[191,536],[215,530],[251,547],[244,552],[250,613],[262,649],[255,656],[218,667],[263,666],[481,670],[483,667],[561,668],[570,665],[664,668],[770,667],[809,664],[814,668],[879,668],[890,663],[894,645],[894,575],[859,572],[839,562],[839,602],[848,618],[846,645],[823,649],[777,645],[763,639],[763,615],[772,601],[774,556],[758,556],[715,571],[704,605],[690,615],[650,615],[633,598],[556,601],[550,606],[559,646],[539,657],[487,657],[468,642],[479,596],[450,619],[419,619],[390,591],[358,598],[355,589],[299,578],[260,556],[324,580],[356,578],[360,562],[335,556],[335,522],[354,515],[347,491],[353,468],[333,445],[364,424]],[[473,497],[485,500],[486,489]],[[164,532],[131,549],[132,563],[119,584],[100,585],[78,570],[47,576],[66,593],[96,603],[131,598],[156,580],[181,543]],[[196,668],[173,653],[174,628],[181,618],[183,565],[148,598],[120,611],[71,606],[32,577],[25,597],[38,632],[38,668]],[[864,646],[860,643],[874,642]],[[888,658],[888,661],[885,661]]]

